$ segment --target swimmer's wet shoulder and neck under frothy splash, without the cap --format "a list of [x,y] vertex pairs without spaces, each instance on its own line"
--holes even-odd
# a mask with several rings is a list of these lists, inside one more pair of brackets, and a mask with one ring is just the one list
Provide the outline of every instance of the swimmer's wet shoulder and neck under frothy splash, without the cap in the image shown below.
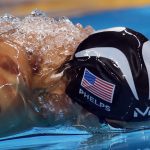
[[[33,11],[0,18],[0,135],[72,118],[63,64],[94,30]],[[50,120],[50,121],[47,121]]]

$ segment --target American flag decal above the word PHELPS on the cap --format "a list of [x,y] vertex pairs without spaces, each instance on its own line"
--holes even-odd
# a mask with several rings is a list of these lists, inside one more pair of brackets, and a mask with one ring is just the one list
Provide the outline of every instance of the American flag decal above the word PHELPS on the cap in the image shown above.
[[95,76],[85,68],[81,86],[93,95],[112,103],[115,85]]

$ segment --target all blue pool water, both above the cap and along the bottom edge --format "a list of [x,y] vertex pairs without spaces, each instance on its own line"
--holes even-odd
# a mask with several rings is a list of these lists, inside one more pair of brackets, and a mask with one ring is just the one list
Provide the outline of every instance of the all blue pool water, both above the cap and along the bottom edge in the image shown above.
[[[96,12],[71,18],[96,30],[125,26],[150,38],[150,7]],[[33,128],[0,139],[0,150],[148,150],[150,131],[91,134],[74,127]]]

